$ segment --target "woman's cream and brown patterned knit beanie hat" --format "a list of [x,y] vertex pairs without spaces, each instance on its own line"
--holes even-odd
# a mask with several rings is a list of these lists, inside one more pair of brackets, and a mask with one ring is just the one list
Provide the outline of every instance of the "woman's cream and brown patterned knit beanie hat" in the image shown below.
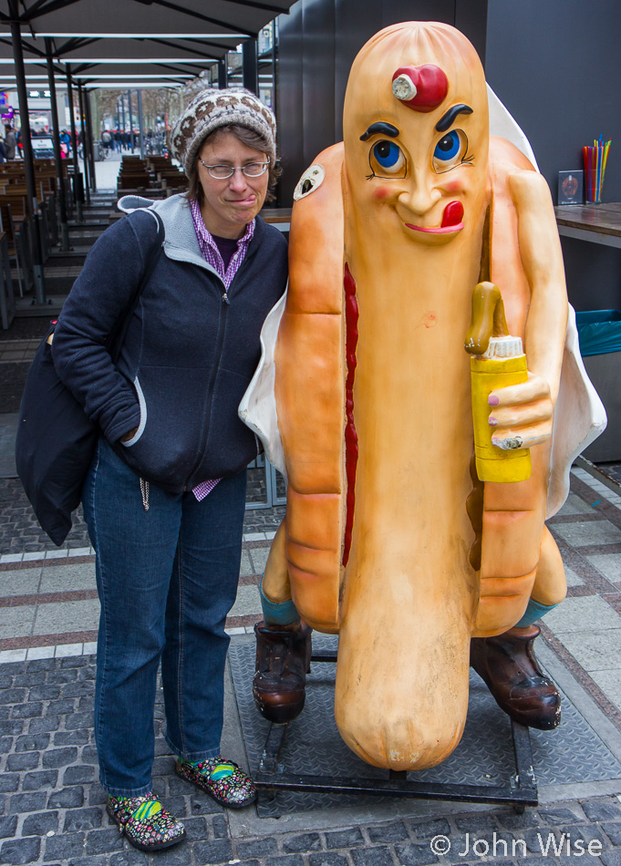
[[172,155],[190,176],[202,142],[216,129],[238,123],[264,139],[265,152],[276,160],[276,119],[250,90],[243,88],[202,90],[191,100],[171,132]]

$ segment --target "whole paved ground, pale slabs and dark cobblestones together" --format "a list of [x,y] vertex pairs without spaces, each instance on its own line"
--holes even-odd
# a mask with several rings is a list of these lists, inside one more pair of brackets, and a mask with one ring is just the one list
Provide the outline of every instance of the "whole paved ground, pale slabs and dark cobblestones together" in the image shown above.
[[[282,509],[260,513],[275,524]],[[570,589],[546,617],[540,656],[563,676],[565,694],[574,690],[580,697],[574,706],[587,701],[595,707],[587,716],[593,720],[595,712],[601,719],[595,728],[621,758],[621,498],[574,469],[570,498],[549,525]],[[260,615],[257,582],[273,532],[246,532],[228,624],[233,645],[251,640],[247,633]],[[154,784],[185,820],[189,840],[158,855],[135,851],[109,825],[97,781],[92,654],[98,601],[90,548],[4,554],[0,586],[0,863],[621,866],[621,779],[543,786],[540,807],[523,815],[412,799],[369,806],[344,797],[340,809],[261,819],[254,807],[225,812],[174,776],[160,736],[160,703]],[[227,685],[223,750],[243,763],[236,701]]]

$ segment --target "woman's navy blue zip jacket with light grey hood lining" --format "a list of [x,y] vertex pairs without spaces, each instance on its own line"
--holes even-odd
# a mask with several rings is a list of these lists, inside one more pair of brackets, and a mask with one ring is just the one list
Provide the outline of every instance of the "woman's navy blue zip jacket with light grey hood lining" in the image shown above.
[[[285,291],[285,238],[256,218],[226,303],[184,196],[157,202],[127,196],[119,207],[129,215],[98,239],[58,318],[54,364],[131,469],[167,490],[190,490],[256,457],[256,438],[237,407],[259,362],[265,316]],[[164,222],[164,254],[115,368],[105,342],[155,252],[150,207]],[[135,436],[120,444],[133,428]]]

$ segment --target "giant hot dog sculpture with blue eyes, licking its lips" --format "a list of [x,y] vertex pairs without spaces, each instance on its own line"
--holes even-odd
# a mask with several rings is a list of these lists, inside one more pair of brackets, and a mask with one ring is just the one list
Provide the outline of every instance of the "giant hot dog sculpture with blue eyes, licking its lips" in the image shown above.
[[[532,594],[564,597],[543,523],[568,311],[554,211],[529,160],[490,142],[479,58],[441,24],[388,27],[362,48],[344,142],[296,199],[285,309],[241,410],[288,477],[264,586],[290,583],[305,622],[340,634],[347,745],[380,767],[432,767],[461,737],[471,637],[511,628]],[[528,359],[528,383],[495,412],[500,441],[531,446],[516,483],[471,474],[464,338],[481,279]],[[587,397],[564,458],[595,438],[596,397],[569,368]]]

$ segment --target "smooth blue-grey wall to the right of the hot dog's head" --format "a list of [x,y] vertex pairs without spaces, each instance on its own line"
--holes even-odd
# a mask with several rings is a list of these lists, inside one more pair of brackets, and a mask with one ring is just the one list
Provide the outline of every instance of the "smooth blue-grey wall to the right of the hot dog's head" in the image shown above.
[[[621,201],[619,0],[490,0],[486,74],[533,145],[556,200],[559,170],[612,139],[604,200]],[[621,250],[563,238],[576,310],[621,309]]]

